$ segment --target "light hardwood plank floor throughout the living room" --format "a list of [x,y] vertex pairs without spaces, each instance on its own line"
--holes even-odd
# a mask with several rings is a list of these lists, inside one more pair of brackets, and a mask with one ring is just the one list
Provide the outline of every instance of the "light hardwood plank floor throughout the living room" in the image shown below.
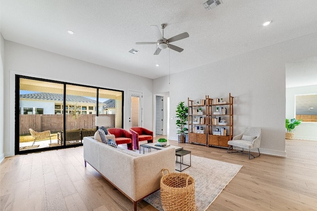
[[[252,160],[226,149],[178,145],[192,155],[243,165],[208,211],[317,210],[317,141],[286,140],[286,158]],[[133,210],[133,203],[98,172],[84,167],[83,147],[5,158],[0,190],[1,211]],[[156,209],[141,201],[138,210]]]

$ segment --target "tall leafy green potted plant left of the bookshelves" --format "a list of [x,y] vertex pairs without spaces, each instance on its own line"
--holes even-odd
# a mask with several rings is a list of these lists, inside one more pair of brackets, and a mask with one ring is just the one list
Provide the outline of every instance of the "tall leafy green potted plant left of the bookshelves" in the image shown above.
[[188,129],[185,127],[185,125],[187,125],[186,121],[187,121],[187,112],[188,112],[188,107],[184,105],[184,102],[180,102],[177,107],[176,107],[176,118],[178,118],[176,120],[176,128],[178,128],[179,130],[177,130],[177,134],[178,135],[178,142],[179,143],[185,143],[186,137],[185,137],[185,133],[187,133]]

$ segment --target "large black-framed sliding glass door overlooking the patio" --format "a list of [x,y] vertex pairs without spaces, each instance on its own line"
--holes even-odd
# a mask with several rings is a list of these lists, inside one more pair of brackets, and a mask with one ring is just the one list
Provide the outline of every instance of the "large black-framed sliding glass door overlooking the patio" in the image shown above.
[[123,126],[123,91],[16,76],[16,154],[82,145],[96,115]]

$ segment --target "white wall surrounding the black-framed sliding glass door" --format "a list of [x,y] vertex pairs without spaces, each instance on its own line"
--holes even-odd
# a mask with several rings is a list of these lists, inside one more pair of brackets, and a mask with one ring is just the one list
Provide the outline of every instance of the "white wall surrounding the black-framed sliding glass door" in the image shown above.
[[[96,86],[124,91],[124,105],[128,105],[128,90],[143,92],[144,125],[153,127],[152,103],[153,80],[141,76],[125,73],[108,67],[31,48],[21,44],[4,41],[4,114],[1,122],[4,125],[4,156],[14,155],[14,89],[15,74],[39,77],[44,79],[64,81],[75,84]],[[75,74],[76,73],[76,74]],[[87,76],[87,73],[90,73]],[[126,128],[128,108],[124,107],[124,128]]]

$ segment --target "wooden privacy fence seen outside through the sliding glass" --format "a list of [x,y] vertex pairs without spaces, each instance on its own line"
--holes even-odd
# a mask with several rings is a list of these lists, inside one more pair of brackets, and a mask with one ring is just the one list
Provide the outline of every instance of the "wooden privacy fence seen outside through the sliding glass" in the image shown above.
[[[96,114],[83,114],[78,119],[74,119],[70,114],[66,114],[66,130],[77,128],[95,128]],[[111,126],[115,125],[115,114],[99,114],[99,116],[109,116]],[[51,132],[61,132],[63,129],[62,114],[20,114],[20,135],[29,134],[29,128],[37,132],[50,130]]]

